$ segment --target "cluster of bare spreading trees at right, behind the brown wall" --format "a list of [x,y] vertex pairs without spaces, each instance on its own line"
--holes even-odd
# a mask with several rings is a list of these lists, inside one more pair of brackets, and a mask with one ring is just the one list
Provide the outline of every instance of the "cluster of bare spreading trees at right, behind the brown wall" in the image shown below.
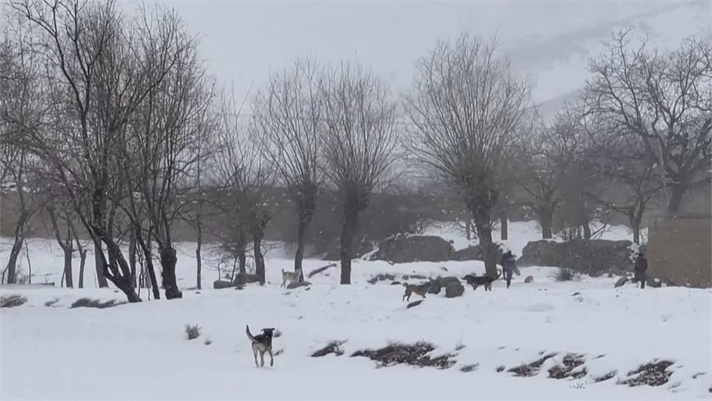
[[612,35],[607,54],[590,61],[580,99],[538,124],[520,160],[519,186],[543,238],[555,210],[573,200],[584,223],[591,205],[624,215],[640,243],[657,198],[676,214],[685,193],[709,185],[711,54],[710,38],[661,52],[632,29]]

